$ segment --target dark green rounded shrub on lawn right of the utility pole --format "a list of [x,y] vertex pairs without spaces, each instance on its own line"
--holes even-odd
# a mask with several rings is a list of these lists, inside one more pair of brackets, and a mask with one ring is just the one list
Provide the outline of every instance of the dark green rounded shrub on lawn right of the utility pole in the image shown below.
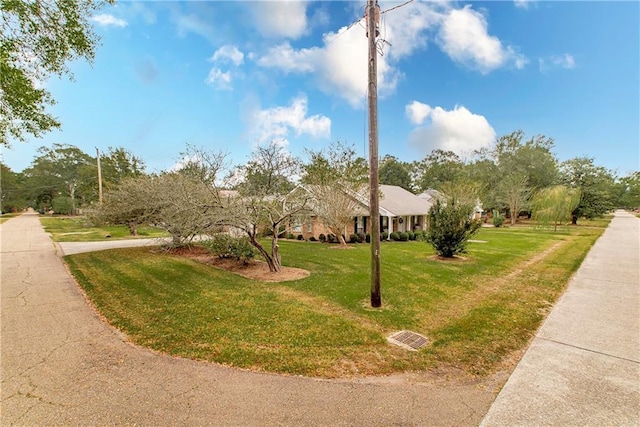
[[429,211],[429,229],[425,240],[438,255],[451,258],[466,252],[467,240],[481,226],[472,219],[473,206],[450,199],[446,204],[437,201]]

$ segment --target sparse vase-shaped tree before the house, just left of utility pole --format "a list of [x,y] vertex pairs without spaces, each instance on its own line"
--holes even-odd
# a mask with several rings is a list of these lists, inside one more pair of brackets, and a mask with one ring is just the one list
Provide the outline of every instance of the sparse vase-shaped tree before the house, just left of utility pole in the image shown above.
[[332,144],[327,150],[308,151],[310,161],[303,167],[302,183],[313,195],[311,209],[336,235],[342,246],[345,228],[353,223],[354,212],[366,200],[368,167],[356,157],[353,147]]

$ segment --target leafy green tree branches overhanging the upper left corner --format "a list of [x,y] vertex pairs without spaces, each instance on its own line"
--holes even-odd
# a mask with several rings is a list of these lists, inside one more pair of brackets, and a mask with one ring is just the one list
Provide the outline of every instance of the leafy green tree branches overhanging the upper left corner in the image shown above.
[[[108,1],[112,3],[112,1]],[[73,77],[67,63],[92,61],[97,37],[88,18],[104,4],[94,0],[0,2],[0,144],[25,141],[60,127],[46,112],[55,101],[43,88],[50,75]]]

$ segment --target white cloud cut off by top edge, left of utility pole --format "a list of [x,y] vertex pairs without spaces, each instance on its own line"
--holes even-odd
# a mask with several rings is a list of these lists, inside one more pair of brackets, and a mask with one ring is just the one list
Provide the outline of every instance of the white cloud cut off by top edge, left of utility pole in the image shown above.
[[259,1],[252,5],[256,28],[263,36],[297,39],[307,31],[307,1]]

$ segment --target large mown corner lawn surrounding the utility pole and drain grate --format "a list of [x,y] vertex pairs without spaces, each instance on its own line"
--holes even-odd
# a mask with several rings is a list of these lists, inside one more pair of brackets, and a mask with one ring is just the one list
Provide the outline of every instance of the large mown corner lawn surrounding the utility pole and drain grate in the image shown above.
[[[176,356],[297,375],[381,375],[453,366],[499,369],[523,349],[603,228],[481,229],[466,261],[430,259],[423,242],[383,243],[383,307],[369,307],[369,247],[281,242],[308,278],[255,282],[149,248],[68,256],[108,321]],[[430,343],[386,342],[409,329]]]

